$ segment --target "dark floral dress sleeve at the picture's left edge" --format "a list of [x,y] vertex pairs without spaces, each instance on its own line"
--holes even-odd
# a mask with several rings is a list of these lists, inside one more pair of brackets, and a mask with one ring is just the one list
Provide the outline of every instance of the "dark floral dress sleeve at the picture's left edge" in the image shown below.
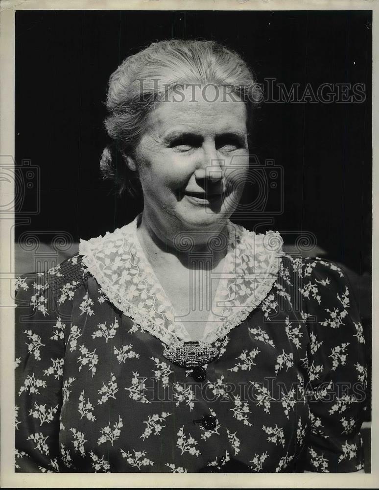
[[15,302],[15,471],[60,471],[65,321],[44,273],[17,278]]

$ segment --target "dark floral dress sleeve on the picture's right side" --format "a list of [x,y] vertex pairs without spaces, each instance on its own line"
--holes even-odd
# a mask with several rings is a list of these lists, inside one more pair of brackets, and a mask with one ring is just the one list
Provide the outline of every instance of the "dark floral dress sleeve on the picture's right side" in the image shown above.
[[342,270],[305,259],[301,272],[302,314],[310,343],[308,371],[311,427],[304,469],[345,473],[364,467],[360,427],[366,410],[365,339],[352,290]]

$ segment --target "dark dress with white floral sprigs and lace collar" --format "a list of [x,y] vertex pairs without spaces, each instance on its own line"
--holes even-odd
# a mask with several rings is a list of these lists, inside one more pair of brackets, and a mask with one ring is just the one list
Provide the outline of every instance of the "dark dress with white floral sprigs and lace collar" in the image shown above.
[[229,222],[199,379],[164,356],[191,338],[139,220],[17,278],[16,471],[362,469],[365,339],[343,272]]

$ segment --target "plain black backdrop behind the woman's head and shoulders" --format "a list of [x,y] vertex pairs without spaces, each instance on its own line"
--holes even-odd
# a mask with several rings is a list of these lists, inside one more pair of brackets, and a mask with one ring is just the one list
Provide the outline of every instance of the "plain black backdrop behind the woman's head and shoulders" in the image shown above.
[[[258,82],[365,84],[364,103],[261,104],[250,151],[284,169],[284,213],[266,228],[310,231],[329,258],[370,271],[371,19],[371,11],[16,12],[16,164],[29,159],[41,172],[41,211],[28,228],[78,241],[134,218],[138,204],[100,180],[109,75],[152,41],[214,39],[240,52]],[[16,227],[16,240],[25,229]]]

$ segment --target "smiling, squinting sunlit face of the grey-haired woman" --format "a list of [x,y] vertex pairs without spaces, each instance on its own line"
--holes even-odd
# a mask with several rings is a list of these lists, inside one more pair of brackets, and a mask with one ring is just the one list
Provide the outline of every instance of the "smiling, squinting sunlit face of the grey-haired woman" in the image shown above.
[[[193,88],[193,87],[192,87]],[[151,111],[137,162],[144,214],[183,229],[212,228],[236,209],[248,170],[245,104],[222,91],[192,88],[183,101],[160,102]],[[204,95],[204,97],[203,97]]]

